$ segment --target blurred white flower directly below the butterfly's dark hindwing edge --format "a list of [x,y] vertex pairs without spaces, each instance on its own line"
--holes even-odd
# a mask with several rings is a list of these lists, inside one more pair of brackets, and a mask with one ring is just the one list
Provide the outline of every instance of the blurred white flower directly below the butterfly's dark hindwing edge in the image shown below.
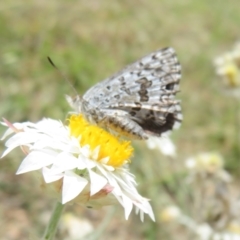
[[146,141],[149,149],[157,149],[163,155],[175,157],[176,147],[167,135],[161,137],[151,137]]

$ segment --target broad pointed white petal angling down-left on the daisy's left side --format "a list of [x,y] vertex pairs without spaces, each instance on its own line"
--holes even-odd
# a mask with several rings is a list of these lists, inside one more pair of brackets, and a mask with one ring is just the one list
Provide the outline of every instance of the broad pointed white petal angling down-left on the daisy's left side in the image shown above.
[[21,174],[33,170],[41,169],[54,162],[57,153],[48,149],[42,151],[30,152],[27,157],[22,161],[16,174]]

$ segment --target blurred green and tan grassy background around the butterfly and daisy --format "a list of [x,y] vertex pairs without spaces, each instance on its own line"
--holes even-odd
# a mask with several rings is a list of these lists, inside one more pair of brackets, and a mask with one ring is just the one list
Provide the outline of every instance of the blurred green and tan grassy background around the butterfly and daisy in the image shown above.
[[[212,64],[239,39],[239,7],[237,0],[5,1],[0,6],[0,116],[11,122],[65,119],[70,108],[64,96],[75,92],[49,64],[48,56],[83,94],[126,64],[172,46],[183,75],[177,99],[182,101],[184,121],[172,135],[177,160],[164,160],[157,152],[140,150],[143,143],[136,143],[132,161],[139,191],[152,199],[157,217],[169,202],[163,194],[165,182],[173,191],[180,190],[176,183],[184,172],[177,169],[188,156],[218,151],[227,169],[240,177],[235,119],[239,103],[221,94]],[[39,214],[54,205],[40,188],[36,191],[34,174],[14,176],[22,158],[17,150],[0,165],[0,226],[17,218],[6,214],[6,209],[26,212],[28,228],[24,225],[18,238],[11,239],[41,235],[45,223]],[[96,226],[105,214],[75,208],[81,217],[92,217]],[[101,239],[178,239],[177,232],[168,235],[161,223],[148,217],[142,224],[134,214],[125,221],[121,209],[117,216]],[[5,232],[2,227],[1,232]]]

